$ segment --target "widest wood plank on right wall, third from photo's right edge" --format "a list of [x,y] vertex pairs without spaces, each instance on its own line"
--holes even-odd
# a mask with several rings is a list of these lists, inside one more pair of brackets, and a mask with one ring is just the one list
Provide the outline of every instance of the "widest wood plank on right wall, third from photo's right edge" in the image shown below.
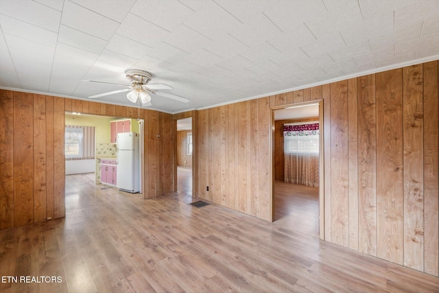
[[377,257],[404,262],[403,77],[395,69],[376,74]]

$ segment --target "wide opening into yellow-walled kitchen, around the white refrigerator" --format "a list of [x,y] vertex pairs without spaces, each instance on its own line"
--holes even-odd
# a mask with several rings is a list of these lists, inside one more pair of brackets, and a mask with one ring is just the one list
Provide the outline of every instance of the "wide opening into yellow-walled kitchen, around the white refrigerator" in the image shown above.
[[[143,119],[66,112],[65,126],[66,196],[78,193],[77,189],[84,183],[95,185],[99,190],[117,191],[119,170],[114,136],[119,132],[136,132],[139,136],[139,158],[136,159],[139,160],[139,171],[136,172],[140,181],[138,194],[142,194]],[[123,129],[118,132],[113,126]],[[68,135],[67,130],[76,132]],[[67,152],[72,155],[68,156]]]

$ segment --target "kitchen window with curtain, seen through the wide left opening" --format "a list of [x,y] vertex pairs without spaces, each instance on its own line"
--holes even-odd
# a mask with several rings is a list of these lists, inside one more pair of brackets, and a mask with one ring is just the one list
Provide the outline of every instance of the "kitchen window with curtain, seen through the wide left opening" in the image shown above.
[[64,153],[67,160],[95,159],[95,128],[66,126]]

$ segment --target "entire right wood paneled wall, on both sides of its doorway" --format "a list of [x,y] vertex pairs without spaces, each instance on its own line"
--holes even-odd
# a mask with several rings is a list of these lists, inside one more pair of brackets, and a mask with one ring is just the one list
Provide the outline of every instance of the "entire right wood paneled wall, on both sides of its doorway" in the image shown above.
[[438,61],[200,110],[198,196],[271,221],[270,107],[318,99],[324,239],[438,276]]

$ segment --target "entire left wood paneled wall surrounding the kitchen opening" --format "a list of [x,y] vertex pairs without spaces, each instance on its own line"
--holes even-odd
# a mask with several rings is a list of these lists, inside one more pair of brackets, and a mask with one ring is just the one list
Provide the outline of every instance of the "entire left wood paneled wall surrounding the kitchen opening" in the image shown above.
[[65,216],[65,111],[145,121],[143,197],[174,191],[172,115],[0,90],[0,230]]

